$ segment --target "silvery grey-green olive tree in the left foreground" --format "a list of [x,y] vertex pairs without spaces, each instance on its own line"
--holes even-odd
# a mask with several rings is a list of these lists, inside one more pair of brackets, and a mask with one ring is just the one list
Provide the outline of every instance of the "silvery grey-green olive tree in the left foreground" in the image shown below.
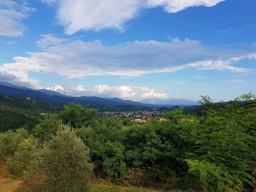
[[70,126],[60,126],[32,161],[34,170],[46,176],[44,191],[86,191],[92,174],[89,148]]

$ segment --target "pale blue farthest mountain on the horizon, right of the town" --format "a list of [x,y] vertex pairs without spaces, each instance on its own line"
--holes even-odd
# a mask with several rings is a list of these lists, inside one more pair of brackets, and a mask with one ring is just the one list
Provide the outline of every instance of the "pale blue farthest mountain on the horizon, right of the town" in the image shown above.
[[147,99],[143,100],[143,103],[147,104],[159,104],[159,105],[164,105],[164,106],[192,106],[192,105],[197,105],[197,101],[192,101],[189,99]]

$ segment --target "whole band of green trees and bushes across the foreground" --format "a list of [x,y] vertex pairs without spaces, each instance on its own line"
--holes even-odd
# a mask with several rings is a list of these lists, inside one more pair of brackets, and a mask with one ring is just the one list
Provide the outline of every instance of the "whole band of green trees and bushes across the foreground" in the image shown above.
[[[251,93],[217,104],[202,96],[197,109],[143,124],[70,104],[31,131],[1,129],[0,159],[12,174],[41,177],[43,191],[253,191],[255,103]],[[92,180],[138,188],[88,186],[92,169]]]

